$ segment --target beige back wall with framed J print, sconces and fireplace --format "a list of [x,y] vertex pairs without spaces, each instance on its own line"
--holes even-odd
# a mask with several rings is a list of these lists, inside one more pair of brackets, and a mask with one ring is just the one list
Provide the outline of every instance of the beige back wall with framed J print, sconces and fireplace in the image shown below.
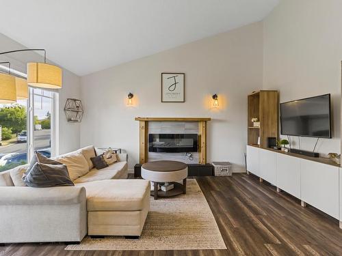
[[[208,160],[244,169],[247,94],[263,80],[262,23],[254,23],[81,78],[81,145],[122,147],[139,162],[134,117],[211,117]],[[139,42],[136,42],[137,46]],[[185,72],[185,103],[161,103],[161,72]],[[134,94],[135,106],[125,104]],[[217,93],[220,109],[211,109]]]

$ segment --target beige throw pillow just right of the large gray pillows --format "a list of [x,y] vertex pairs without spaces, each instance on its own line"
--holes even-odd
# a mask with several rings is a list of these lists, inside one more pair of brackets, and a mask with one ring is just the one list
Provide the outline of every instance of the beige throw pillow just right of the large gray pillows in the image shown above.
[[89,172],[88,162],[81,152],[71,152],[53,159],[66,165],[72,181]]

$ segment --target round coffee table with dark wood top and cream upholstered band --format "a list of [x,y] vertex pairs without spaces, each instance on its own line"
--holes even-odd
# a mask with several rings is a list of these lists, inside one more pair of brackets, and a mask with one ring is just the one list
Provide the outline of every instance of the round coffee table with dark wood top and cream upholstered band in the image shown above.
[[[173,197],[179,194],[187,193],[187,165],[184,162],[177,161],[154,161],[146,162],[142,165],[142,177],[154,183],[155,189],[151,195],[155,197]],[[183,180],[183,185],[177,181]],[[174,188],[168,191],[158,191],[158,184],[173,184]]]

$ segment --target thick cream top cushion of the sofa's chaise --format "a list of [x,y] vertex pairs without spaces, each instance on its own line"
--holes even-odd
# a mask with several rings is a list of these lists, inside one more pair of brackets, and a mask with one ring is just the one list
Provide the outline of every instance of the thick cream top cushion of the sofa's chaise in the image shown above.
[[148,180],[98,180],[76,186],[86,188],[88,212],[140,211],[150,198]]

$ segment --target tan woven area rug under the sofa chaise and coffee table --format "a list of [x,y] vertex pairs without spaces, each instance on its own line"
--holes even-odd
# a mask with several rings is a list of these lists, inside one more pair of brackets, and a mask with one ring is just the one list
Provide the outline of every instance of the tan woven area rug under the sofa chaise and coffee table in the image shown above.
[[226,249],[224,240],[196,180],[187,194],[150,200],[150,212],[139,240],[120,236],[83,239],[66,250],[202,250]]

